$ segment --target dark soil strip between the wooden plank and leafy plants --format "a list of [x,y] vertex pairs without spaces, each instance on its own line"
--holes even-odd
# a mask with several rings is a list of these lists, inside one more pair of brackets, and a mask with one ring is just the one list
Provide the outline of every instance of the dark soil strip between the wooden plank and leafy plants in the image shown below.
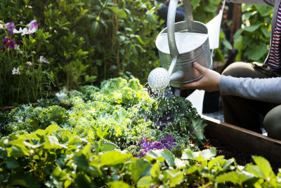
[[[225,159],[234,158],[236,163],[241,166],[245,166],[247,163],[254,163],[251,156],[261,156],[259,154],[243,151],[242,149],[236,147],[230,147],[215,138],[208,137],[208,135],[207,139],[209,140],[209,145],[207,146],[207,148],[216,147],[217,156],[223,155],[225,156]],[[277,174],[278,168],[281,168],[281,164],[270,162],[270,165],[273,168],[275,174]]]

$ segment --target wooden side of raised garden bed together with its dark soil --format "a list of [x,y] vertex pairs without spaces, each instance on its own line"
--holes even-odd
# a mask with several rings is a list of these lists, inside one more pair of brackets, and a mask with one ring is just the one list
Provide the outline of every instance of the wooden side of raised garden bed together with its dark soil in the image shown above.
[[218,155],[226,159],[235,158],[238,164],[252,163],[251,156],[263,156],[270,161],[275,173],[281,168],[281,141],[266,137],[251,130],[224,123],[209,116],[202,115],[207,127],[207,147],[216,147]]

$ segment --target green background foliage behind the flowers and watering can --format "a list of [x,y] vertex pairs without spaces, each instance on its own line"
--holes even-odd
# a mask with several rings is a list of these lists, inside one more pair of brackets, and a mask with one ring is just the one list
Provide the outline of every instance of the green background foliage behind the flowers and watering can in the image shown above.
[[[191,0],[194,20],[207,23],[217,15],[221,1]],[[51,88],[44,96],[53,95],[53,90],[71,90],[85,84],[99,85],[104,79],[133,76],[146,83],[149,72],[159,66],[155,39],[163,25],[157,18],[160,4],[150,0],[71,0],[30,1],[3,0],[0,3],[0,18],[4,22],[28,23],[37,20],[41,32],[48,34],[46,42],[33,43],[34,53],[44,55],[48,65]],[[237,48],[237,60],[263,62],[268,51],[270,16],[272,8],[266,6],[243,7],[242,29],[235,35],[231,46],[221,32],[221,48],[216,49],[214,60],[223,61],[228,50]],[[259,51],[256,51],[258,46]],[[7,62],[1,59],[2,65]],[[2,71],[1,69],[0,71]],[[6,79],[11,93],[17,92],[16,81]],[[28,81],[22,83],[30,86]],[[5,88],[1,88],[5,90]],[[6,89],[6,96],[12,95]],[[25,101],[34,102],[30,92]],[[41,96],[41,95],[40,95]],[[1,95],[5,105],[13,102]]]

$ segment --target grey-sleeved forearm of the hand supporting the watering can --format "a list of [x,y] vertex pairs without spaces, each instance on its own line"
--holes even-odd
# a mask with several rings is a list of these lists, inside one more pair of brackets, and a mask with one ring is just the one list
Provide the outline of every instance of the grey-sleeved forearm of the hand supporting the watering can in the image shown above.
[[281,78],[251,79],[221,76],[221,95],[235,95],[251,100],[281,104]]

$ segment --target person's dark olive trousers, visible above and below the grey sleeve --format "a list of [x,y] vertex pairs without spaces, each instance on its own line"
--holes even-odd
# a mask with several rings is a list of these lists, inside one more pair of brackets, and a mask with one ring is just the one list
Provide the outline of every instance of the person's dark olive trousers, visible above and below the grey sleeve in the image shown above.
[[[235,62],[223,75],[233,77],[270,78],[280,76],[266,65]],[[280,93],[281,95],[281,93]],[[261,133],[264,126],[269,137],[281,139],[281,105],[259,100],[249,100],[233,95],[221,95],[223,116],[226,123]]]

